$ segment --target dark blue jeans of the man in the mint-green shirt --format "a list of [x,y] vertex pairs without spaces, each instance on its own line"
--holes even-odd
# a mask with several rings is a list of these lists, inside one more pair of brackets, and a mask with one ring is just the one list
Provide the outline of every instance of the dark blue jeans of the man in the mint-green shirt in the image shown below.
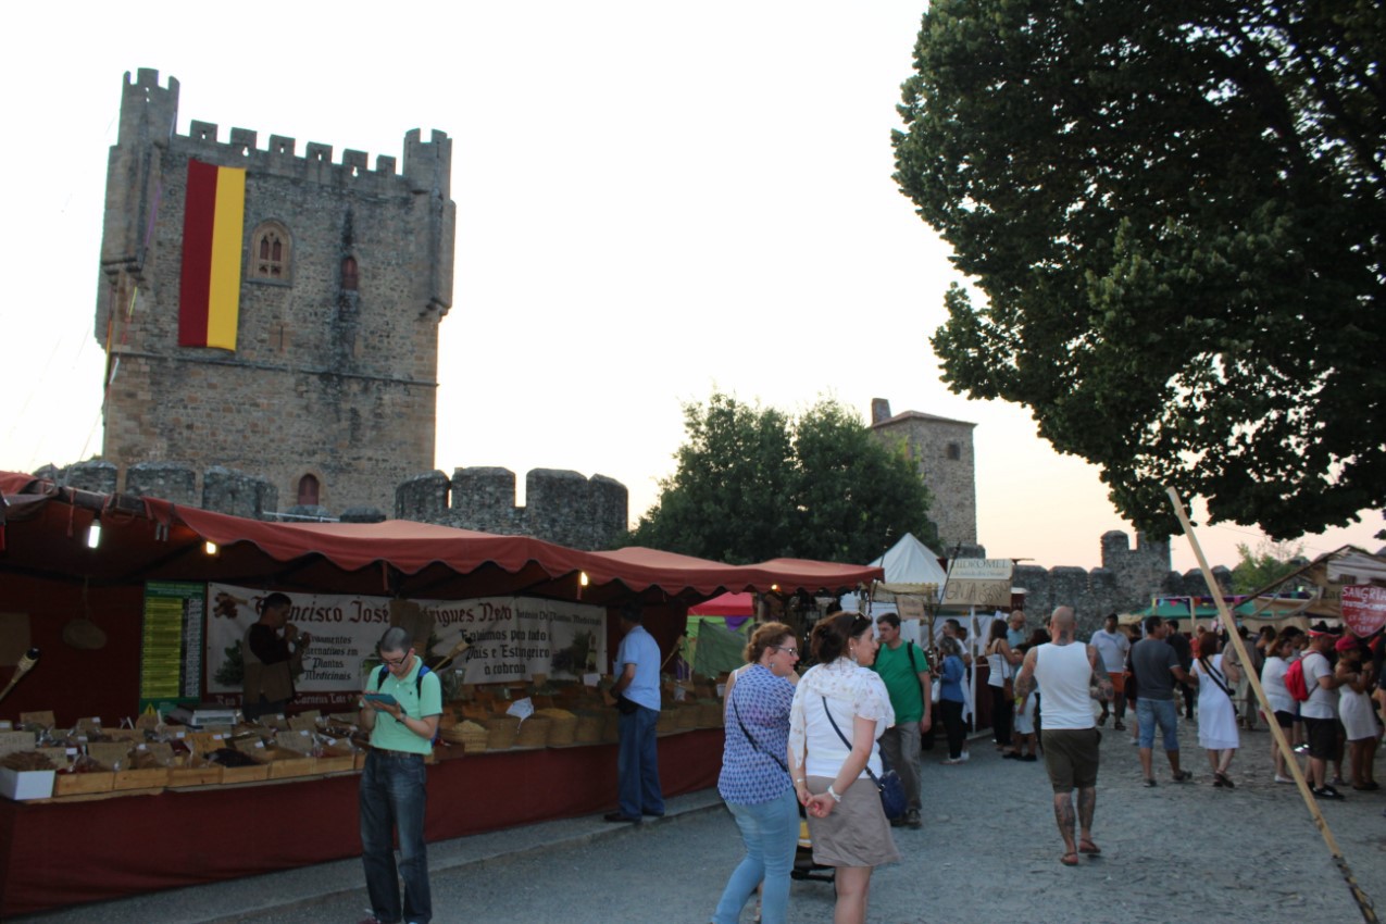
[[[401,920],[399,880],[405,880],[403,920],[432,918],[428,853],[424,848],[427,767],[423,755],[394,758],[371,751],[360,774],[360,848],[371,913]],[[399,864],[392,833],[399,830]]]

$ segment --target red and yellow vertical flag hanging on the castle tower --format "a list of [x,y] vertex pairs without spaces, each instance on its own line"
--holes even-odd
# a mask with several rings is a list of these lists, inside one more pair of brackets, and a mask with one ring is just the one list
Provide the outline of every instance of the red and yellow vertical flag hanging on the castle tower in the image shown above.
[[244,224],[245,170],[188,161],[179,346],[236,349]]

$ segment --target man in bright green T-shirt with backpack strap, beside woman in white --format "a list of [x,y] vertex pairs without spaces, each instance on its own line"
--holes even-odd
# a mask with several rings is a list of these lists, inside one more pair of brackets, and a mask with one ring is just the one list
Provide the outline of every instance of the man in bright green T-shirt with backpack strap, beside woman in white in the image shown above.
[[880,651],[872,669],[880,675],[895,711],[895,725],[880,736],[880,752],[905,784],[909,806],[902,821],[912,828],[919,821],[919,736],[929,731],[933,712],[933,682],[929,657],[913,641],[900,637],[900,616],[886,612],[876,618]]

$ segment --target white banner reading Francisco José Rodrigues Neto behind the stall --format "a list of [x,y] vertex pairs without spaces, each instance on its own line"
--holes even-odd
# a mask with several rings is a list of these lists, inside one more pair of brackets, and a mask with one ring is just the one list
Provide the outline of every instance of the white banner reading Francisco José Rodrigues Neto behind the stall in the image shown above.
[[[241,640],[259,615],[255,605],[267,592],[234,585],[208,585],[207,690],[209,698],[237,702],[241,693]],[[460,683],[529,680],[534,675],[578,679],[607,669],[606,610],[579,603],[529,597],[477,600],[410,600],[349,594],[290,593],[290,622],[309,636],[304,669],[294,679],[299,705],[327,705],[362,690],[373,665],[376,643],[391,615],[416,639],[427,637],[426,659],[466,650],[444,666]]]

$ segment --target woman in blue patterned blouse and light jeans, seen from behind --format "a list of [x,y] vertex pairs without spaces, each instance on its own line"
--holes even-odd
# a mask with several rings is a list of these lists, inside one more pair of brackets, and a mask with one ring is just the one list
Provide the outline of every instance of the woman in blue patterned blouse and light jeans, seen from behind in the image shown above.
[[728,694],[726,745],[717,791],[732,810],[746,842],[746,858],[726,881],[714,924],[736,924],[742,909],[765,880],[761,921],[784,924],[789,874],[798,849],[798,799],[790,781],[789,707],[794,701],[798,643],[783,622],[755,630],[746,646],[750,668],[739,672]]

